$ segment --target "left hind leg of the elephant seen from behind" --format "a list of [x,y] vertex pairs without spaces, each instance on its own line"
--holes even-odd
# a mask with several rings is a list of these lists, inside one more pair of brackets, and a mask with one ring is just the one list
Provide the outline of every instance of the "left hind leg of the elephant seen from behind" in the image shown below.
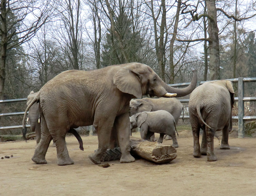
[[194,140],[193,156],[201,157],[200,144],[199,144],[199,132],[200,132],[199,120],[193,114],[190,114],[189,119],[191,122],[193,140]]

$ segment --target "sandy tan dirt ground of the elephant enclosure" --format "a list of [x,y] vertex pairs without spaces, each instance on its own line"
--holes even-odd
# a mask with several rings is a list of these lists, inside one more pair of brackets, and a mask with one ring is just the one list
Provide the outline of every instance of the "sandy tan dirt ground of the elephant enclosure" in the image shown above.
[[[133,136],[140,137],[139,133]],[[220,142],[214,139],[218,160],[207,162],[206,156],[192,156],[193,137],[189,131],[180,131],[178,156],[170,163],[109,161],[108,168],[88,158],[98,147],[97,136],[82,140],[84,151],[75,137],[66,138],[75,161],[68,166],[57,165],[52,142],[44,165],[31,160],[35,140],[0,142],[0,157],[13,155],[0,159],[0,195],[256,195],[256,138],[231,135],[230,150],[220,150]],[[172,140],[163,143],[172,144]]]

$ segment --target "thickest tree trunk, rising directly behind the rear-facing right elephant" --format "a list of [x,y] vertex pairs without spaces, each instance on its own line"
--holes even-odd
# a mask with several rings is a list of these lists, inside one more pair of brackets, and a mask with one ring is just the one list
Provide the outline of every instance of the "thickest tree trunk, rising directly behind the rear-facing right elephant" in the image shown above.
[[220,52],[219,52],[219,29],[217,26],[217,9],[215,0],[206,0],[208,15],[208,35],[210,59],[210,80],[220,80]]

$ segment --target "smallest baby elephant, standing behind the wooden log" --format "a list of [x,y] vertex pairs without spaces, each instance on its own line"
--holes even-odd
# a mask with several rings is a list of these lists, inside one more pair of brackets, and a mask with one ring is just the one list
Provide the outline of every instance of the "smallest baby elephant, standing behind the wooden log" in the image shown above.
[[141,128],[141,138],[144,140],[149,140],[154,133],[160,133],[158,142],[162,143],[164,135],[167,134],[172,137],[172,146],[179,147],[175,134],[177,130],[174,117],[165,110],[134,114],[130,119],[130,128],[136,127]]

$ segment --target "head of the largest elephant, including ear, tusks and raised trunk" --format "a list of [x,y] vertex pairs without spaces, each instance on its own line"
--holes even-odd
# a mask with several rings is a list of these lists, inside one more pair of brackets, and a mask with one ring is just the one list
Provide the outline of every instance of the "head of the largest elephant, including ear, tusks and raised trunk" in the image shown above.
[[193,71],[193,78],[189,86],[178,89],[168,86],[149,66],[141,63],[130,63],[117,71],[113,77],[113,83],[120,91],[138,98],[147,94],[158,97],[182,97],[195,89],[197,71]]

